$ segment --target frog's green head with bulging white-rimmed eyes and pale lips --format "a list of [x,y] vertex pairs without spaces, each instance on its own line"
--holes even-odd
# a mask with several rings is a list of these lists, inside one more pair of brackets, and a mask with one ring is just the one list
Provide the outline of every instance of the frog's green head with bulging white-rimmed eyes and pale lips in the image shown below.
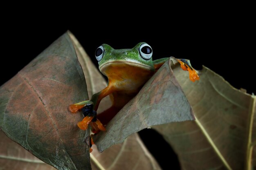
[[95,57],[98,60],[101,73],[104,73],[114,63],[153,71],[152,54],[153,51],[146,42],[140,42],[132,49],[113,49],[108,44],[102,44],[97,48]]

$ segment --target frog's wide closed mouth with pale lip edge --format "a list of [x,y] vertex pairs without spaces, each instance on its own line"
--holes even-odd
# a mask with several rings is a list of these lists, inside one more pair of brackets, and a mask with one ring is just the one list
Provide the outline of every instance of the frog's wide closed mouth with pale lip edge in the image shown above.
[[102,72],[104,70],[106,70],[107,68],[113,66],[131,66],[131,67],[139,67],[139,68],[143,68],[143,69],[146,69],[146,70],[152,70],[152,67],[146,65],[146,64],[142,64],[142,63],[139,63],[139,62],[133,62],[133,61],[122,61],[122,60],[117,60],[117,61],[109,61],[109,62],[106,62],[104,64],[102,64],[101,66],[99,66],[99,70]]

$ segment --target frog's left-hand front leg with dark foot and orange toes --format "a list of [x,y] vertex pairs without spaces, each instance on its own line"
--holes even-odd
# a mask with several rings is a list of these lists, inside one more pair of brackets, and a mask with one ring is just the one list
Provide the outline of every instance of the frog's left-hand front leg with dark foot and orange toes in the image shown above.
[[82,129],[86,130],[88,125],[90,124],[93,128],[94,132],[99,130],[106,130],[103,124],[97,119],[97,109],[99,107],[99,103],[101,100],[110,95],[114,91],[112,84],[109,82],[108,86],[104,88],[99,93],[92,95],[91,100],[87,100],[84,102],[79,102],[77,104],[70,105],[70,111],[75,113],[77,110],[82,110],[83,115],[85,116],[82,121],[77,123],[77,126]]

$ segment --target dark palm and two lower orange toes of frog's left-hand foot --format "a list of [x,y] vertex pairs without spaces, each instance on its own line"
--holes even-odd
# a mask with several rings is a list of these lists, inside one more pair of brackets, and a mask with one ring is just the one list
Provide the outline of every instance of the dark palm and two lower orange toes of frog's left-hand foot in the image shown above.
[[93,104],[87,104],[82,109],[84,118],[82,121],[79,121],[77,123],[77,126],[82,129],[86,130],[88,128],[88,125],[90,124],[92,126],[92,132],[97,133],[100,130],[105,131],[105,127],[103,124],[97,119],[97,112],[93,110]]

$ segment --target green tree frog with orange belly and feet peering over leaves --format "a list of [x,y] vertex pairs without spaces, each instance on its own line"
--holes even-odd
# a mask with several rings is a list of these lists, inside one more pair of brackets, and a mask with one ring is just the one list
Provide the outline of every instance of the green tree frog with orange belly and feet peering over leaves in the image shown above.
[[[102,44],[95,51],[99,71],[108,77],[108,86],[92,95],[90,100],[71,104],[72,113],[82,110],[84,118],[77,123],[81,130],[92,127],[92,132],[105,131],[106,124],[123,108],[150,79],[169,57],[152,59],[153,50],[146,42],[140,42],[132,49],[113,49]],[[199,76],[190,62],[177,59],[181,68],[189,71],[191,81],[199,80]],[[97,115],[101,100],[110,96],[112,106]]]

